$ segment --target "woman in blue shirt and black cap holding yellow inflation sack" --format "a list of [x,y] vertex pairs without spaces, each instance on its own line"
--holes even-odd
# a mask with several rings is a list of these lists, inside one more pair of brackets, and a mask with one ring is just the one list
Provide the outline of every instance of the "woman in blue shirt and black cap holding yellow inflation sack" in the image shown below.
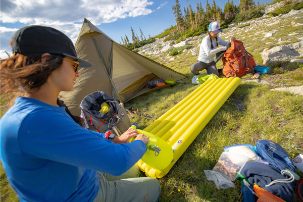
[[[158,201],[154,178],[122,179],[149,138],[134,129],[112,141],[86,130],[58,98],[73,90],[79,67],[72,41],[44,26],[19,29],[1,63],[1,93],[22,96],[0,120],[1,161],[20,201]],[[129,143],[130,138],[136,137]]]

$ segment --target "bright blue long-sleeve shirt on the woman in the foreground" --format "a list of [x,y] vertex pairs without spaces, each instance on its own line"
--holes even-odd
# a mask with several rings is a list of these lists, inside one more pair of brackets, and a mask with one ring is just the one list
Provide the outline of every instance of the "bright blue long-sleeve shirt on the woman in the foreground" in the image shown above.
[[1,118],[1,161],[21,201],[92,201],[96,171],[121,175],[146,151],[141,140],[114,144],[66,113],[39,100],[17,97]]

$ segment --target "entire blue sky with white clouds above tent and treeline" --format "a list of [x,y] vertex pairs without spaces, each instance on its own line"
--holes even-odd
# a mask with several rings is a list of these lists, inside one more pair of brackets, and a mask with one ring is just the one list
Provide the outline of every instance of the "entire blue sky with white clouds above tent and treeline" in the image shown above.
[[[200,3],[205,8],[206,1],[188,0],[195,10]],[[266,5],[272,0],[256,0],[256,4]],[[179,0],[181,11],[187,7],[186,0]],[[209,1],[213,3],[212,0]],[[227,0],[215,0],[224,10]],[[239,0],[233,1],[235,5]],[[175,25],[172,6],[175,0],[1,0],[0,12],[0,57],[7,58],[11,53],[9,40],[14,32],[26,25],[44,25],[54,27],[73,42],[76,41],[83,19],[86,18],[116,42],[128,36],[131,29],[140,36],[156,36],[166,28]]]

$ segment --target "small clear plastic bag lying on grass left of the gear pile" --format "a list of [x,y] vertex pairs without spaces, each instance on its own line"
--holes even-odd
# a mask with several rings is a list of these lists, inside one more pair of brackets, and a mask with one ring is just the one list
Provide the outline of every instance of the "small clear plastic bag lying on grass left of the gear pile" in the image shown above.
[[217,189],[235,188],[234,183],[224,177],[221,173],[212,170],[204,170],[204,173],[208,180],[215,182]]

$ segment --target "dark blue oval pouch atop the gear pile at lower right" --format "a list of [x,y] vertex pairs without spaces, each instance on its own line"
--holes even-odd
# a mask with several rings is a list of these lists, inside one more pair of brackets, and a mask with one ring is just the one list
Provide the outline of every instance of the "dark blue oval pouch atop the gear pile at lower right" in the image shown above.
[[256,143],[256,148],[261,157],[270,165],[276,167],[280,171],[288,168],[294,173],[297,173],[290,157],[279,144],[263,139]]

